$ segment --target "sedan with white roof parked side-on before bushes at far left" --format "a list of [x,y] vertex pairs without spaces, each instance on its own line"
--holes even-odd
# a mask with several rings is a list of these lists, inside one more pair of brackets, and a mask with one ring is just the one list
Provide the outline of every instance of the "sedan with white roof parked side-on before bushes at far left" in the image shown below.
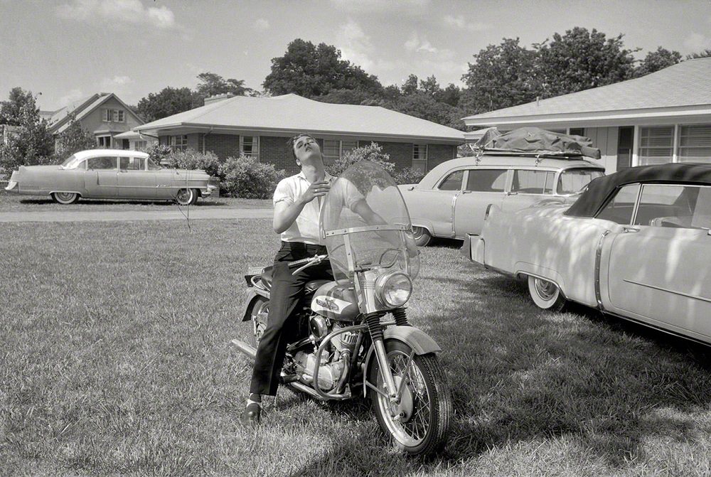
[[50,195],[60,204],[85,199],[175,200],[180,205],[208,197],[205,171],[164,169],[148,154],[119,149],[90,149],[70,156],[60,166],[21,166],[6,191]]

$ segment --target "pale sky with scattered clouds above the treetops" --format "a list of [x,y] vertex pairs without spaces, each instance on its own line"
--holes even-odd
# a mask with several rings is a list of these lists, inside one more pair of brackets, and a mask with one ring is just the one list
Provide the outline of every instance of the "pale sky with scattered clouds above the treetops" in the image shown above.
[[295,38],[335,45],[383,85],[462,86],[487,45],[574,26],[624,33],[636,58],[686,55],[711,48],[711,0],[0,0],[0,99],[20,86],[46,110],[95,92],[137,104],[205,71],[261,90]]

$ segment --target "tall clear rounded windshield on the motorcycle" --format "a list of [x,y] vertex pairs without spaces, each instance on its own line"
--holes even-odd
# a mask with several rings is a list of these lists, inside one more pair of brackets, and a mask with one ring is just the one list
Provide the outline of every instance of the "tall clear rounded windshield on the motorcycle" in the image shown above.
[[360,161],[343,171],[325,197],[320,225],[337,280],[369,269],[417,277],[410,214],[397,184],[378,164]]

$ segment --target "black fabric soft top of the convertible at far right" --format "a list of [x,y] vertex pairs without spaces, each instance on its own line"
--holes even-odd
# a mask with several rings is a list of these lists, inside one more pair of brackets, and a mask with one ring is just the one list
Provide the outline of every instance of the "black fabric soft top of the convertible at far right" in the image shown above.
[[594,179],[565,211],[572,217],[594,217],[617,188],[634,183],[690,183],[711,186],[711,164],[638,166]]

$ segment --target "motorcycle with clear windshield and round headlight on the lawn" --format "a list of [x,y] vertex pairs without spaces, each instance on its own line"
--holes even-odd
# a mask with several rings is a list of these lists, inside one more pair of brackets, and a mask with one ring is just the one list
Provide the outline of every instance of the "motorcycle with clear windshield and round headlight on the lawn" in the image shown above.
[[[361,199],[376,223],[348,208]],[[413,455],[439,451],[449,434],[451,392],[441,348],[407,321],[419,252],[395,181],[375,163],[354,164],[325,196],[320,230],[327,254],[289,266],[296,274],[328,259],[334,279],[306,284],[302,336],[287,347],[281,382],[317,400],[370,398],[397,447]],[[245,275],[249,343],[232,343],[252,360],[267,324],[271,273],[264,267]]]

